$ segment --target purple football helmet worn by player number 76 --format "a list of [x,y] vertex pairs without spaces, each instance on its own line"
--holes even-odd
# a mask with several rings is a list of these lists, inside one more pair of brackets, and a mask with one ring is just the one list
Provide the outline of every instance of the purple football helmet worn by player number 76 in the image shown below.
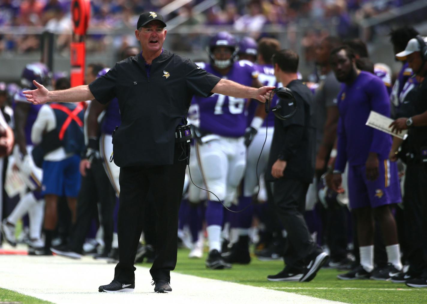
[[[213,55],[213,50],[216,47],[229,47],[232,50],[230,59],[227,60],[218,60]],[[228,68],[231,66],[234,61],[237,60],[237,52],[239,48],[237,47],[236,38],[228,32],[219,32],[211,38],[208,47],[208,54],[211,60],[211,63],[218,68]]]

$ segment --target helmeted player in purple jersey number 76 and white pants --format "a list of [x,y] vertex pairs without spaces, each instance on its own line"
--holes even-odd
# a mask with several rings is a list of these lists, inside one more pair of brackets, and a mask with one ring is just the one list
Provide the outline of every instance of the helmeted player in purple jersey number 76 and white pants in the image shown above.
[[[261,85],[257,82],[257,71],[252,62],[237,62],[237,43],[233,35],[219,32],[211,38],[208,46],[209,63],[199,67],[218,77],[233,80],[246,86]],[[225,263],[221,252],[221,229],[225,205],[236,200],[237,187],[242,180],[246,165],[246,147],[243,135],[246,129],[246,102],[244,98],[213,94],[211,97],[194,97],[199,107],[199,141],[196,153],[203,180],[208,193],[206,224],[208,231],[209,256],[206,266],[210,269],[231,268]]]

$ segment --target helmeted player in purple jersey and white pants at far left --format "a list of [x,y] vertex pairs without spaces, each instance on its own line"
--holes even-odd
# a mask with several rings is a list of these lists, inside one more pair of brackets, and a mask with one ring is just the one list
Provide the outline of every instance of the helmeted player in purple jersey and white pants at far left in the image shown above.
[[[36,62],[28,64],[22,71],[21,86],[27,89],[35,89],[32,80],[41,81],[44,85],[50,85],[50,71],[46,65]],[[26,213],[29,215],[29,254],[52,254],[45,250],[41,239],[41,226],[44,217],[44,200],[41,197],[41,180],[43,171],[38,168],[32,159],[31,129],[37,117],[41,105],[33,105],[26,100],[22,91],[18,91],[13,98],[15,115],[15,152],[11,161],[19,169],[29,192],[21,195],[18,205],[12,213],[4,219],[2,232],[5,239],[12,245],[16,245],[15,224]]]

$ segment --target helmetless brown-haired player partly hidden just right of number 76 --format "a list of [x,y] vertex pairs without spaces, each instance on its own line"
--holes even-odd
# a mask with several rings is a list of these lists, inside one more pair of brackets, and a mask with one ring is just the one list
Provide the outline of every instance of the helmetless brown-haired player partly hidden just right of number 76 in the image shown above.
[[[276,77],[274,76],[274,69],[271,62],[273,54],[278,50],[280,50],[280,43],[276,39],[261,38],[258,43],[258,64],[254,65],[254,69],[258,72],[258,80],[265,86],[281,86],[281,84],[277,83]],[[277,97],[274,96],[270,106],[275,106],[276,103]],[[247,264],[251,260],[249,256],[249,228],[252,225],[252,216],[254,213],[254,207],[251,206],[252,196],[257,193],[258,180],[261,179],[261,183],[263,183],[261,174],[263,174],[266,169],[274,130],[273,113],[270,112],[269,115],[265,117],[264,106],[257,106],[258,103],[251,101],[248,107],[249,127],[245,130],[245,145],[248,147],[246,152],[246,170],[243,179],[243,193],[242,196],[239,197],[238,204],[239,210],[243,208],[246,209],[242,213],[237,213],[235,215],[235,223],[231,225],[230,242],[234,243],[234,245],[231,251],[223,255],[225,262],[228,263]],[[267,141],[260,157],[258,169],[256,169],[258,157],[260,156],[266,134]],[[265,208],[263,210],[265,210]],[[278,222],[278,219],[276,222]],[[236,225],[236,227],[233,227],[234,225]],[[266,223],[266,225],[269,228],[273,226],[271,223]]]

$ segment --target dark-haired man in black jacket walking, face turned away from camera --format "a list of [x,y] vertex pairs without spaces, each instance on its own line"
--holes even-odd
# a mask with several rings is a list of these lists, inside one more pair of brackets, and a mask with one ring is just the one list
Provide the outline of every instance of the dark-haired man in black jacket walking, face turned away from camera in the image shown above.
[[[266,181],[272,182],[276,211],[288,233],[286,267],[269,275],[270,281],[313,280],[328,257],[311,239],[303,216],[305,196],[314,175],[316,134],[313,94],[298,80],[298,60],[298,54],[292,50],[281,50],[272,59],[277,81],[292,90],[297,110],[288,120],[275,118],[266,171]],[[279,101],[283,111],[290,108],[286,103],[290,100]]]

